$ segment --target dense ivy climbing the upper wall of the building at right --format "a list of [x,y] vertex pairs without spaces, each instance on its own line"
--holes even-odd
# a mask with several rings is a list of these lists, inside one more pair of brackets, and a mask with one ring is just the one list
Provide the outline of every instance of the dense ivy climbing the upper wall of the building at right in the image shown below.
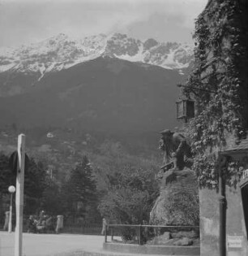
[[[195,99],[197,115],[186,133],[192,140],[199,184],[212,188],[218,179],[216,153],[224,149],[226,137],[234,134],[240,140],[246,135],[247,4],[208,2],[195,22],[195,40],[195,67],[183,94]],[[241,170],[235,170],[237,178]]]

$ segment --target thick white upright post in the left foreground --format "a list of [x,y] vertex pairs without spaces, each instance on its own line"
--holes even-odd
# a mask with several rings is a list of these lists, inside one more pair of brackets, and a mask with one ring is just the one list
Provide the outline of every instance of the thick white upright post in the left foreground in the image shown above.
[[24,168],[25,168],[25,135],[18,137],[18,166],[16,175],[16,227],[15,227],[15,256],[21,256],[23,250],[23,219],[24,219]]

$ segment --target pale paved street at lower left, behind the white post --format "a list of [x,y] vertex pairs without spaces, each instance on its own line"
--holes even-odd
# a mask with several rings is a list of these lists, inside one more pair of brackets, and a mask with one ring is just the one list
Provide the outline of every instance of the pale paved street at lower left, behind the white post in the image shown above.
[[[62,252],[100,251],[104,236],[24,233],[23,256],[51,256]],[[14,256],[15,233],[0,232],[0,256]]]

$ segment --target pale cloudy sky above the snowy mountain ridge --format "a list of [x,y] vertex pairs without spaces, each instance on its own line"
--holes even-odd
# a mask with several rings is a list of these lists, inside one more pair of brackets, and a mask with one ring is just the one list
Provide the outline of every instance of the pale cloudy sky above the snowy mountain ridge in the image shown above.
[[207,0],[0,0],[0,47],[65,33],[126,33],[141,41],[193,42]]

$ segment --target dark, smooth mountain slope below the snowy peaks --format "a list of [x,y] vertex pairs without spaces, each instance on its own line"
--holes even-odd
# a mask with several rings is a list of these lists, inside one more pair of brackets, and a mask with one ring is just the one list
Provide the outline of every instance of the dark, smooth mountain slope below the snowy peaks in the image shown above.
[[0,125],[145,132],[164,127],[168,115],[173,128],[175,84],[181,81],[173,70],[99,57],[50,72],[26,93],[2,98]]

